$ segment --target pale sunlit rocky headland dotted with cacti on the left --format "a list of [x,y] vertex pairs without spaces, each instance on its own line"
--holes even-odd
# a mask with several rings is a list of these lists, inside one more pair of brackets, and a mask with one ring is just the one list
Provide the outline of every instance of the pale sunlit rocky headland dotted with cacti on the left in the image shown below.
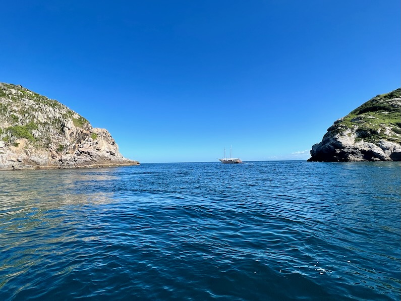
[[65,105],[0,83],[0,169],[135,165],[104,129]]

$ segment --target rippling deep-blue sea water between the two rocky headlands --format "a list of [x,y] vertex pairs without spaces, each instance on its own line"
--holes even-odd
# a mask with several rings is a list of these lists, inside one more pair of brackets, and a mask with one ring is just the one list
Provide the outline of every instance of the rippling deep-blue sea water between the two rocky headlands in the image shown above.
[[401,164],[0,172],[1,300],[399,300]]

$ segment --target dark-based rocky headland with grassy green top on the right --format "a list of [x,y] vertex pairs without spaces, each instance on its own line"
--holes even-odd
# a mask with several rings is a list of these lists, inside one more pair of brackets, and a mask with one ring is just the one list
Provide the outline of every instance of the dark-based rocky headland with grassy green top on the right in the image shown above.
[[377,95],[338,119],[308,161],[401,161],[401,88]]

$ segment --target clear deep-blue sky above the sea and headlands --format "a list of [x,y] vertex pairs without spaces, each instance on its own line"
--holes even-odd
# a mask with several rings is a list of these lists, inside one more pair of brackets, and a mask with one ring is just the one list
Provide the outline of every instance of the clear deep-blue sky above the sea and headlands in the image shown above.
[[400,86],[400,2],[9,1],[0,81],[59,100],[146,162],[307,159]]

